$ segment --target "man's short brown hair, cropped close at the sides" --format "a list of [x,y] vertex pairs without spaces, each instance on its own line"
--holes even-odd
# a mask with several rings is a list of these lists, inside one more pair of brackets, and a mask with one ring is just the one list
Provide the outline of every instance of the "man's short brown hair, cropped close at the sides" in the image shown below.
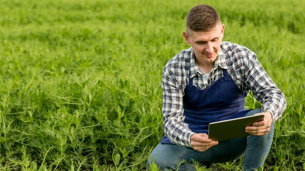
[[187,32],[188,30],[198,32],[207,32],[221,23],[216,10],[209,5],[196,5],[191,8],[187,15]]

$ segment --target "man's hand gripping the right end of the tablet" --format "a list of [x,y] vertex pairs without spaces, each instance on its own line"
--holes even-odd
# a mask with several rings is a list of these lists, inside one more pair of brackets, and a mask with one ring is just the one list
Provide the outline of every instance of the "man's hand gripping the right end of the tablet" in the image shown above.
[[[246,133],[254,135],[254,136],[263,136],[268,134],[270,131],[270,126],[272,123],[272,116],[269,111],[264,113],[258,113],[258,114],[264,114],[264,120],[254,122],[252,126],[246,127]],[[254,115],[258,115],[254,114]]]

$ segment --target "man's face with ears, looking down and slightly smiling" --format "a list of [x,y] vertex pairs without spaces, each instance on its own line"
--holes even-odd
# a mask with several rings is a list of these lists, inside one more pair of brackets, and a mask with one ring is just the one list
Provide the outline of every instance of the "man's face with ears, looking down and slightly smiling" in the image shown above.
[[183,36],[188,44],[191,44],[195,52],[195,60],[199,65],[213,65],[220,44],[224,36],[225,26],[218,24],[214,29],[208,32],[183,32]]

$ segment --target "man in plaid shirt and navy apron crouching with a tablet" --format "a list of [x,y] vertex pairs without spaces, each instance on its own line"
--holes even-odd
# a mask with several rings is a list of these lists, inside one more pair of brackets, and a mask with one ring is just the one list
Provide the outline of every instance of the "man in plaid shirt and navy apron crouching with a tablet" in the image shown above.
[[[193,161],[209,166],[243,157],[243,168],[260,168],[269,153],[274,122],[286,99],[248,48],[222,42],[225,26],[212,7],[197,5],[187,16],[183,36],[191,48],[176,54],[163,70],[162,138],[147,161],[161,170],[194,171]],[[249,91],[262,109],[246,110]],[[210,122],[263,113],[245,131],[253,136],[213,141]]]

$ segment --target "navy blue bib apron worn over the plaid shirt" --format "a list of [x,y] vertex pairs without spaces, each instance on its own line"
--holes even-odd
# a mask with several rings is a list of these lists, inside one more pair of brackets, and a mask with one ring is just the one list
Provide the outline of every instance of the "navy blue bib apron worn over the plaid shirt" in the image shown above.
[[[208,134],[210,122],[244,117],[248,112],[245,109],[244,95],[228,71],[222,70],[224,76],[203,90],[193,85],[191,73],[189,74],[183,107],[185,123],[189,124],[189,128],[195,133]],[[172,144],[166,136],[162,138],[161,143]]]

